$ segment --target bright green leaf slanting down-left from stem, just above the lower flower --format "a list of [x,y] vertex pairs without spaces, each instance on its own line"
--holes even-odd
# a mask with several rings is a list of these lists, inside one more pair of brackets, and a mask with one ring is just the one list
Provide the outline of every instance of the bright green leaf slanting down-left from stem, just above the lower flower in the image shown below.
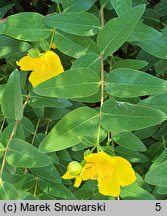
[[[43,152],[67,149],[80,143],[80,136],[97,135],[98,113],[81,107],[64,116],[40,144]],[[93,143],[92,143],[93,144]]]

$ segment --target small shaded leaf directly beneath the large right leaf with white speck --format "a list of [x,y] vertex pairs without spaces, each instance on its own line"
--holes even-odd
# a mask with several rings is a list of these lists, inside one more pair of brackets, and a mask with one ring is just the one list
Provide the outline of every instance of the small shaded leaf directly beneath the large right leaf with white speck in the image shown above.
[[133,151],[146,151],[144,143],[132,132],[113,133],[113,140],[120,146]]

